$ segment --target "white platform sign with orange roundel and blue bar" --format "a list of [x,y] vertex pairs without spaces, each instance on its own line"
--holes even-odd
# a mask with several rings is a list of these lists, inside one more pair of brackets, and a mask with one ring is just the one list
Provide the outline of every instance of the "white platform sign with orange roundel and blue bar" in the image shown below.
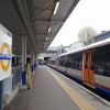
[[12,34],[0,24],[0,80],[11,76]]

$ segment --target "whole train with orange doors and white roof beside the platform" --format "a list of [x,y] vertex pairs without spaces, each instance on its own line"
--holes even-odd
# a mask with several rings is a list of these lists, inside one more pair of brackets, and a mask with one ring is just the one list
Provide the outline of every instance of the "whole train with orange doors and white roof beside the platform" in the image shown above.
[[52,57],[47,65],[110,98],[110,37]]

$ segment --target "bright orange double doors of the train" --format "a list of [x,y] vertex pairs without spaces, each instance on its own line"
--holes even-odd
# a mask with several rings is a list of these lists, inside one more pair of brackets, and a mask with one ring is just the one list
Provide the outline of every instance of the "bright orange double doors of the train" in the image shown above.
[[84,53],[84,81],[87,85],[95,87],[95,70],[92,69],[92,52]]

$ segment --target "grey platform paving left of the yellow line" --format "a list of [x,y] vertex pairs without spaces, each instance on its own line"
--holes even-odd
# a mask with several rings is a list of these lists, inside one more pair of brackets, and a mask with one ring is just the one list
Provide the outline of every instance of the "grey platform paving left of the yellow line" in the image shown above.
[[58,82],[40,66],[31,89],[21,89],[8,110],[80,110]]

